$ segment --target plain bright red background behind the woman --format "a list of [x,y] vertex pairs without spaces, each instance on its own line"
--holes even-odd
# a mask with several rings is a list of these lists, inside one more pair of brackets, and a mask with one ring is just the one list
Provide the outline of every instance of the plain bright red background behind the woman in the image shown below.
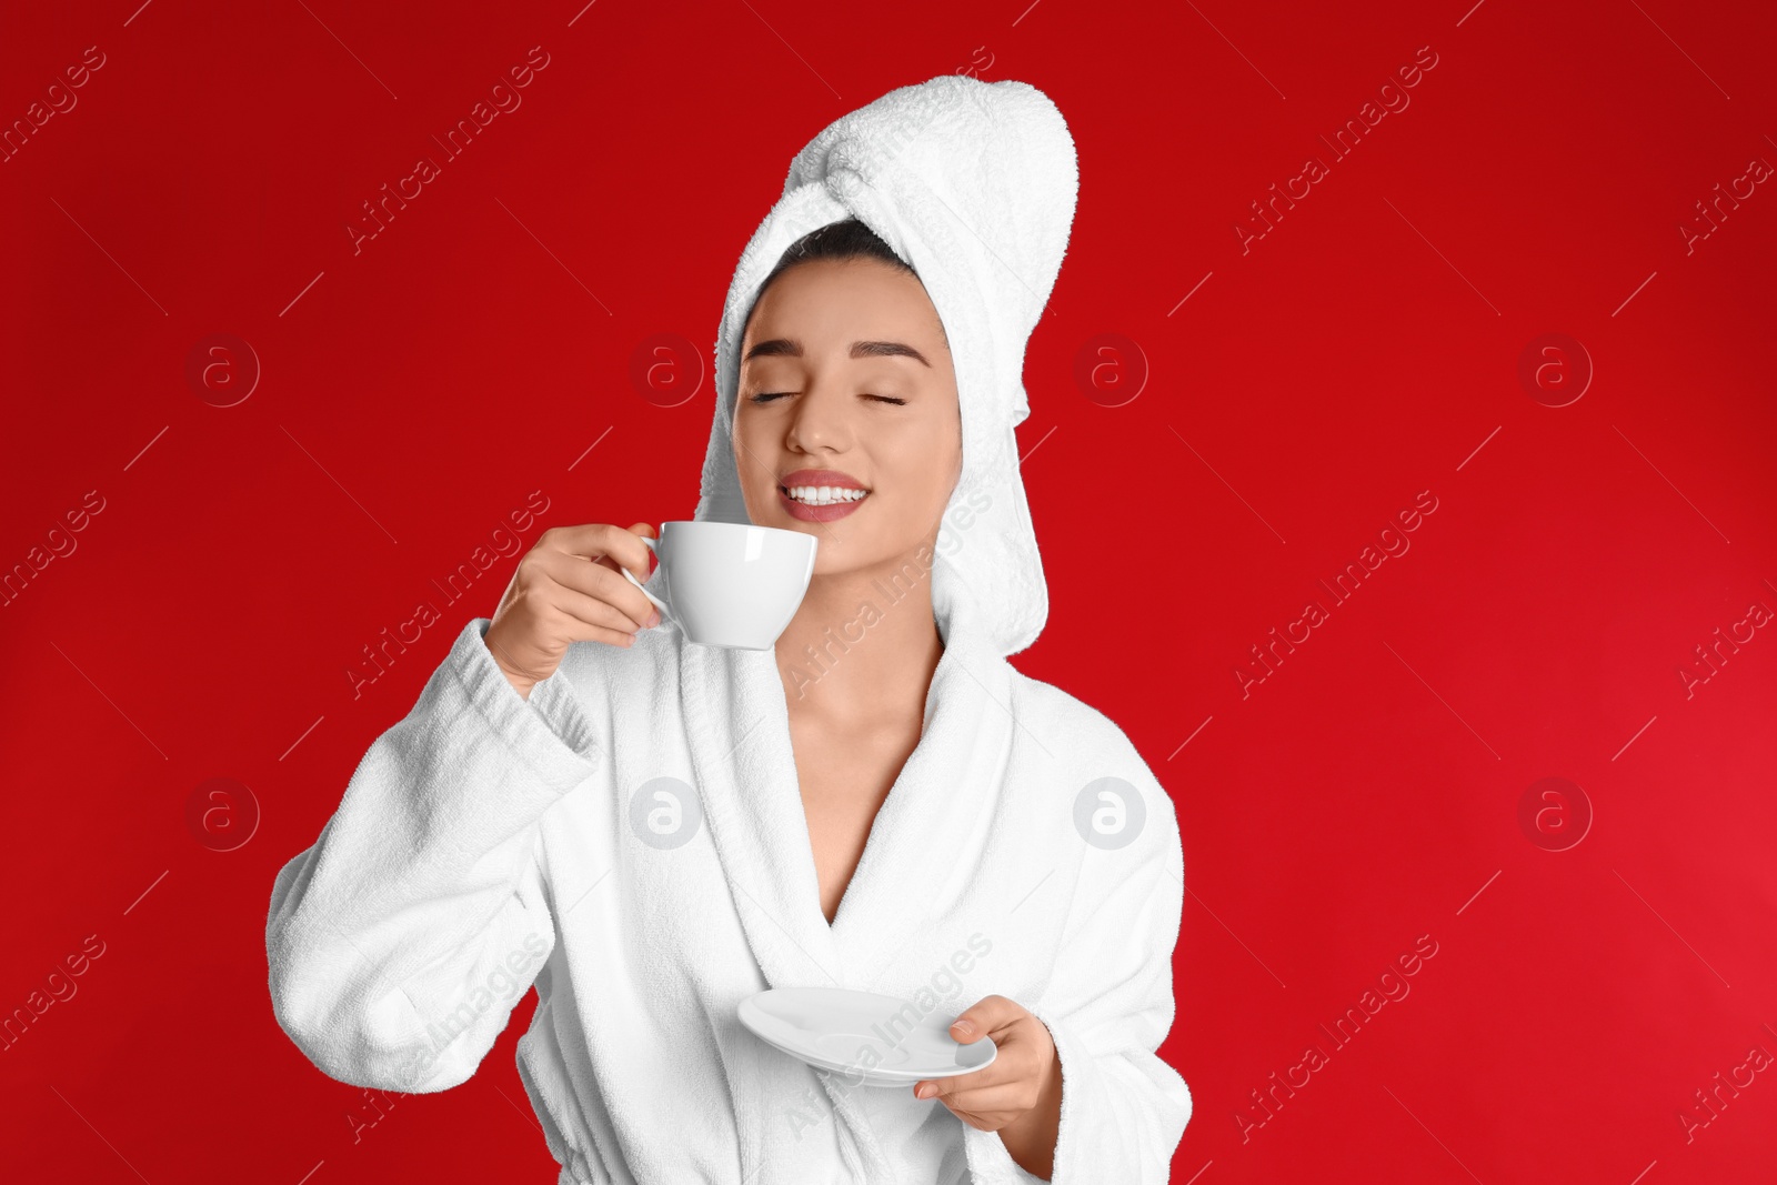
[[[1677,673],[1777,608],[1777,194],[1679,231],[1777,162],[1768,11],[137,4],[23,5],[0,36],[7,124],[105,55],[0,163],[0,563],[103,497],[0,611],[0,1009],[105,943],[0,1054],[9,1176],[554,1180],[514,1068],[535,995],[471,1082],[354,1142],[361,1093],[265,986],[275,871],[514,560],[361,696],[345,672],[531,490],[524,547],[689,517],[711,389],[645,398],[638,345],[681,334],[707,371],[791,155],[970,68],[1040,85],[1079,144],[1020,428],[1052,608],[1015,661],[1116,720],[1178,805],[1173,1178],[1770,1164],[1777,1075],[1690,1141],[1679,1112],[1777,1054],[1777,638],[1688,696]],[[538,44],[522,107],[354,256],[359,203]],[[1420,46],[1411,105],[1331,160],[1317,137]],[[1331,176],[1242,252],[1233,224],[1310,155]],[[219,332],[263,368],[233,407],[185,375]],[[1548,332],[1596,366],[1566,407],[1571,346],[1519,380]],[[1144,357],[1132,402],[1105,405],[1127,348],[1123,386],[1075,382],[1096,334]],[[1333,606],[1317,581],[1422,490],[1411,551]],[[1233,670],[1310,599],[1331,618],[1242,698]],[[1534,837],[1576,814],[1519,824],[1548,776],[1594,812],[1566,851]],[[187,824],[210,778],[263,812],[235,851]],[[1335,1052],[1317,1025],[1422,934],[1411,995]],[[1242,1141],[1311,1041],[1331,1062]]]

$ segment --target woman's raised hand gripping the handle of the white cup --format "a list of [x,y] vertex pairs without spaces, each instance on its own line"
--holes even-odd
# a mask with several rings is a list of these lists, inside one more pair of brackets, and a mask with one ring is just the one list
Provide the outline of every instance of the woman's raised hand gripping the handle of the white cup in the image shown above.
[[521,696],[554,673],[570,641],[629,647],[638,631],[659,625],[659,611],[618,570],[649,577],[638,537],[656,538],[654,528],[554,526],[519,560],[483,640]]

